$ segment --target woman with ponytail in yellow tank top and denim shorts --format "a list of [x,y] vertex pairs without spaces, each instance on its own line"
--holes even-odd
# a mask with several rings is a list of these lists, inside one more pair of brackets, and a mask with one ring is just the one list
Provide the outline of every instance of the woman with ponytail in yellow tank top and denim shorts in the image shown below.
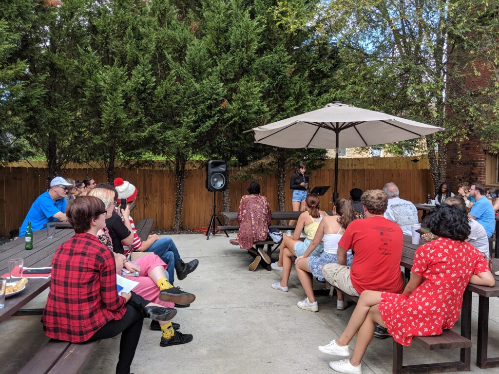
[[[279,260],[277,263],[272,263],[272,269],[282,271],[282,280],[280,283],[277,282],[272,284],[273,289],[287,292],[287,281],[289,280],[292,265],[291,257],[302,256],[305,253],[305,250],[315,236],[319,223],[323,217],[327,216],[325,211],[319,210],[320,200],[316,193],[310,193],[306,197],[305,205],[306,210],[298,217],[293,237],[285,236],[282,239],[282,246],[279,251]],[[301,230],[305,231],[306,238],[304,241],[300,240]],[[320,256],[321,253],[322,244],[318,244],[312,252],[312,255]]]

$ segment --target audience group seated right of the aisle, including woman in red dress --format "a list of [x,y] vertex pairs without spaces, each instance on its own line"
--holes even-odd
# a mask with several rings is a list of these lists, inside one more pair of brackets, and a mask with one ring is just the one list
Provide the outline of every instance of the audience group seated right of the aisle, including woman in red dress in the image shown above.
[[[243,249],[265,240],[267,231],[270,233],[268,201],[259,195],[259,186],[255,192],[254,184],[249,191],[256,196],[251,199],[264,203],[261,209],[258,204],[250,208],[248,197],[242,199],[238,221],[245,229],[239,230],[236,243]],[[271,263],[272,269],[282,271],[280,282],[271,287],[288,291],[295,258],[306,295],[298,301],[298,308],[318,311],[310,273],[336,289],[338,310],[347,307],[344,293],[359,297],[343,334],[319,346],[319,351],[351,356],[329,365],[339,373],[360,374],[362,357],[373,336],[392,337],[408,346],[414,336],[442,334],[456,323],[468,283],[494,286],[489,238],[495,229],[496,200],[489,197],[497,198],[497,191],[486,193],[480,183],[462,184],[454,195],[450,184],[440,186],[436,207],[423,222],[432,235],[423,236],[428,242],[416,250],[405,287],[400,262],[404,235],[411,235],[411,226],[419,222],[415,205],[399,197],[394,183],[363,193],[354,188],[350,195],[349,200],[335,202],[332,216],[320,210],[319,196],[306,196],[305,211],[299,215],[292,237],[283,237],[278,261]],[[304,240],[300,240],[302,230]],[[259,257],[269,263],[262,252],[258,251],[257,263]],[[348,344],[356,334],[351,355]]]

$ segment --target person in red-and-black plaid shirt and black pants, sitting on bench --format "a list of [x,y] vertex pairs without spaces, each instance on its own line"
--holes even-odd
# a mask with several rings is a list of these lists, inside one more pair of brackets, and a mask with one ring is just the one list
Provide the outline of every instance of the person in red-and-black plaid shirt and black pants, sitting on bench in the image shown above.
[[133,292],[118,295],[114,255],[96,236],[106,224],[102,200],[79,197],[66,214],[76,234],[61,244],[52,258],[43,330],[50,338],[72,343],[121,333],[116,373],[129,374],[144,317],[170,321],[176,310],[157,306]]

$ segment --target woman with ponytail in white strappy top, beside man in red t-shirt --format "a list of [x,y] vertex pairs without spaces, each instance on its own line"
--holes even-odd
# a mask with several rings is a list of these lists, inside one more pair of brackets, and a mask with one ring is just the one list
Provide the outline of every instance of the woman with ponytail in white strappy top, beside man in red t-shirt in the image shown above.
[[[355,211],[351,200],[340,198],[336,200],[333,207],[333,215],[324,217],[320,221],[319,227],[315,236],[308,246],[305,253],[298,256],[294,261],[296,273],[300,279],[301,285],[305,290],[307,297],[302,301],[298,301],[298,308],[317,312],[319,310],[312,289],[312,278],[310,274],[316,277],[319,281],[323,281],[322,266],[331,262],[338,262],[336,252],[338,251],[338,242],[345,232],[346,227],[355,219]],[[310,256],[315,247],[323,241],[324,251],[319,257]],[[309,257],[310,256],[310,257]],[[346,264],[350,266],[353,261],[352,250],[347,252]],[[346,302],[343,300],[343,294],[337,289],[338,300],[336,309],[343,310],[346,308]]]

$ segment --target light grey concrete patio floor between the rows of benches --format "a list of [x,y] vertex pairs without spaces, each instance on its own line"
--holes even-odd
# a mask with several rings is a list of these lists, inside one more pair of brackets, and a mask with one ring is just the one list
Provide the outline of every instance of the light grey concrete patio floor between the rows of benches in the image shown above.
[[[235,234],[230,234],[235,237]],[[198,258],[198,269],[176,285],[196,294],[190,308],[178,309],[174,321],[180,331],[194,335],[186,345],[163,348],[160,333],[149,330],[144,321],[137,353],[132,365],[135,374],[162,373],[335,373],[328,366],[335,357],[325,355],[317,346],[336,339],[346,326],[353,306],[336,310],[336,299],[318,297],[319,312],[296,307],[304,292],[295,271],[291,272],[289,292],[273,290],[270,285],[281,272],[259,267],[248,271],[251,257],[229,244],[224,234],[171,236],[184,260]],[[274,260],[277,254],[274,254]],[[323,287],[314,283],[314,288]],[[28,304],[43,307],[46,292]],[[489,356],[499,356],[499,300],[490,301]],[[497,369],[476,365],[476,326],[478,296],[473,295],[472,372],[499,374]],[[11,374],[22,367],[48,338],[42,332],[39,316],[11,317],[0,324],[0,373]],[[455,331],[459,332],[459,322]],[[350,345],[355,346],[355,341]],[[119,337],[98,346],[83,373],[114,374]],[[404,349],[404,364],[423,364],[459,360],[459,350],[426,351],[413,345]],[[374,338],[363,361],[363,373],[385,374],[392,371],[392,339]],[[466,373],[466,372],[463,372]]]

